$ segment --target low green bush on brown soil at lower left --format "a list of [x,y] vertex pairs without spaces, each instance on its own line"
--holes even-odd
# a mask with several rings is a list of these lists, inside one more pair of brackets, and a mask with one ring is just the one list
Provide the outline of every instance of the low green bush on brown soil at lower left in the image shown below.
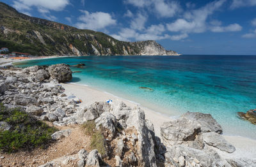
[[3,104],[0,104],[0,121],[12,126],[8,131],[0,131],[0,150],[3,152],[44,148],[52,141],[51,134],[57,131],[19,108],[8,109]]

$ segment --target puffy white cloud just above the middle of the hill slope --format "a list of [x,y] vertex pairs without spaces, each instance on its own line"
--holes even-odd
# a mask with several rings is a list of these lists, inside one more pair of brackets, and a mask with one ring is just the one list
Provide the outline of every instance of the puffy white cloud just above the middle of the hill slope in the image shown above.
[[83,15],[81,15],[78,20],[81,22],[77,22],[76,26],[79,29],[93,29],[99,30],[108,27],[109,25],[115,25],[116,20],[112,18],[109,13],[104,13],[101,11],[97,11],[95,13],[89,13],[89,11],[81,10]]

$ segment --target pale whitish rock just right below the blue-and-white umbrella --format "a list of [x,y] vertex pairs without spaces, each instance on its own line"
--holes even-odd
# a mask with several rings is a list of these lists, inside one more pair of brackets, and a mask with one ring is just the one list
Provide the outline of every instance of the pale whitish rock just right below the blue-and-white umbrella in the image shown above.
[[113,104],[113,110],[111,113],[115,115],[117,120],[127,120],[131,110],[132,109],[129,106],[125,105],[125,103],[121,101],[117,105],[115,103]]

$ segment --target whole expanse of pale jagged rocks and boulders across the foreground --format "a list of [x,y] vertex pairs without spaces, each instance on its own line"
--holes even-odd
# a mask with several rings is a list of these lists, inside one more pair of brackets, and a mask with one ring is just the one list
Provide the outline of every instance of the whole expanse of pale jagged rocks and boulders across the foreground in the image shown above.
[[[220,124],[209,114],[184,113],[164,122],[161,136],[145,119],[141,108],[125,103],[95,102],[81,108],[68,99],[59,82],[72,79],[65,64],[25,69],[1,69],[0,101],[8,108],[20,107],[38,120],[66,127],[92,122],[95,133],[102,131],[102,150],[79,149],[42,166],[255,166],[252,159],[225,159],[220,152],[231,154],[236,148],[222,136]],[[1,131],[10,125],[0,122]],[[60,142],[74,129],[52,134]],[[161,140],[162,139],[162,140]],[[85,139],[84,139],[85,140]],[[10,165],[11,166],[11,165]],[[31,164],[33,166],[33,164]],[[35,166],[35,165],[34,165]]]

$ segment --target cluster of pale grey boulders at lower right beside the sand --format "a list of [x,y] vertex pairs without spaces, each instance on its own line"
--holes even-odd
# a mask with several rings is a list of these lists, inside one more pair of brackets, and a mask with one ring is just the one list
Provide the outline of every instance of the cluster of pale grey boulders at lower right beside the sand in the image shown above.
[[184,113],[161,126],[165,166],[231,166],[218,151],[236,150],[219,134],[220,124],[205,113]]

